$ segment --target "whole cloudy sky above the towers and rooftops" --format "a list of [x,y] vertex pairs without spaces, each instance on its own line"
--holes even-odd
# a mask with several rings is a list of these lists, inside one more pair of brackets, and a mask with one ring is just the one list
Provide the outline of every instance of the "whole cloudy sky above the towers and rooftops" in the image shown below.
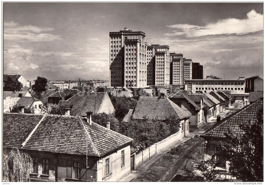
[[263,78],[263,2],[4,2],[3,73],[108,80],[108,34],[124,27],[200,62],[204,77]]

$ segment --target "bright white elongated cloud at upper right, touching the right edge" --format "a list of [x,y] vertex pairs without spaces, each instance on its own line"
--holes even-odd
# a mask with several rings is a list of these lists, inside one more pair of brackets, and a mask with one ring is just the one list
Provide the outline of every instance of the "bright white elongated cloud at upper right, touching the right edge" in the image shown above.
[[165,36],[183,35],[186,37],[200,37],[219,34],[240,35],[263,30],[263,15],[257,13],[255,10],[251,10],[247,13],[246,19],[228,18],[205,26],[174,24],[168,25],[167,27],[174,28],[174,31],[166,33]]

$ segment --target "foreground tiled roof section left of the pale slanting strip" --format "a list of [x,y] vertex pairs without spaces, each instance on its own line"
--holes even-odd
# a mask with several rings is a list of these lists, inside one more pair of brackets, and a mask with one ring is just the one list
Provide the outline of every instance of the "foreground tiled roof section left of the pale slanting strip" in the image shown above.
[[3,147],[20,147],[43,115],[3,113]]

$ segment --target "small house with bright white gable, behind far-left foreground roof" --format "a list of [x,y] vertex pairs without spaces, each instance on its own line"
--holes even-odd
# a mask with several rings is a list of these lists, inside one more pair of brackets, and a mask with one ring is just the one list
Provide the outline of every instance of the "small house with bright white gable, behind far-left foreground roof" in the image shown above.
[[22,97],[16,102],[16,106],[21,109],[32,109],[34,114],[40,114],[43,103],[35,97]]

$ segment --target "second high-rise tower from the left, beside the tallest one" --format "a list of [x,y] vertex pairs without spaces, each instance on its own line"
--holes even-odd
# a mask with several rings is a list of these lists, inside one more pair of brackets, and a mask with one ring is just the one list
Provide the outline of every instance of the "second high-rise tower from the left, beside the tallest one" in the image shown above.
[[147,85],[170,85],[169,46],[147,47]]

